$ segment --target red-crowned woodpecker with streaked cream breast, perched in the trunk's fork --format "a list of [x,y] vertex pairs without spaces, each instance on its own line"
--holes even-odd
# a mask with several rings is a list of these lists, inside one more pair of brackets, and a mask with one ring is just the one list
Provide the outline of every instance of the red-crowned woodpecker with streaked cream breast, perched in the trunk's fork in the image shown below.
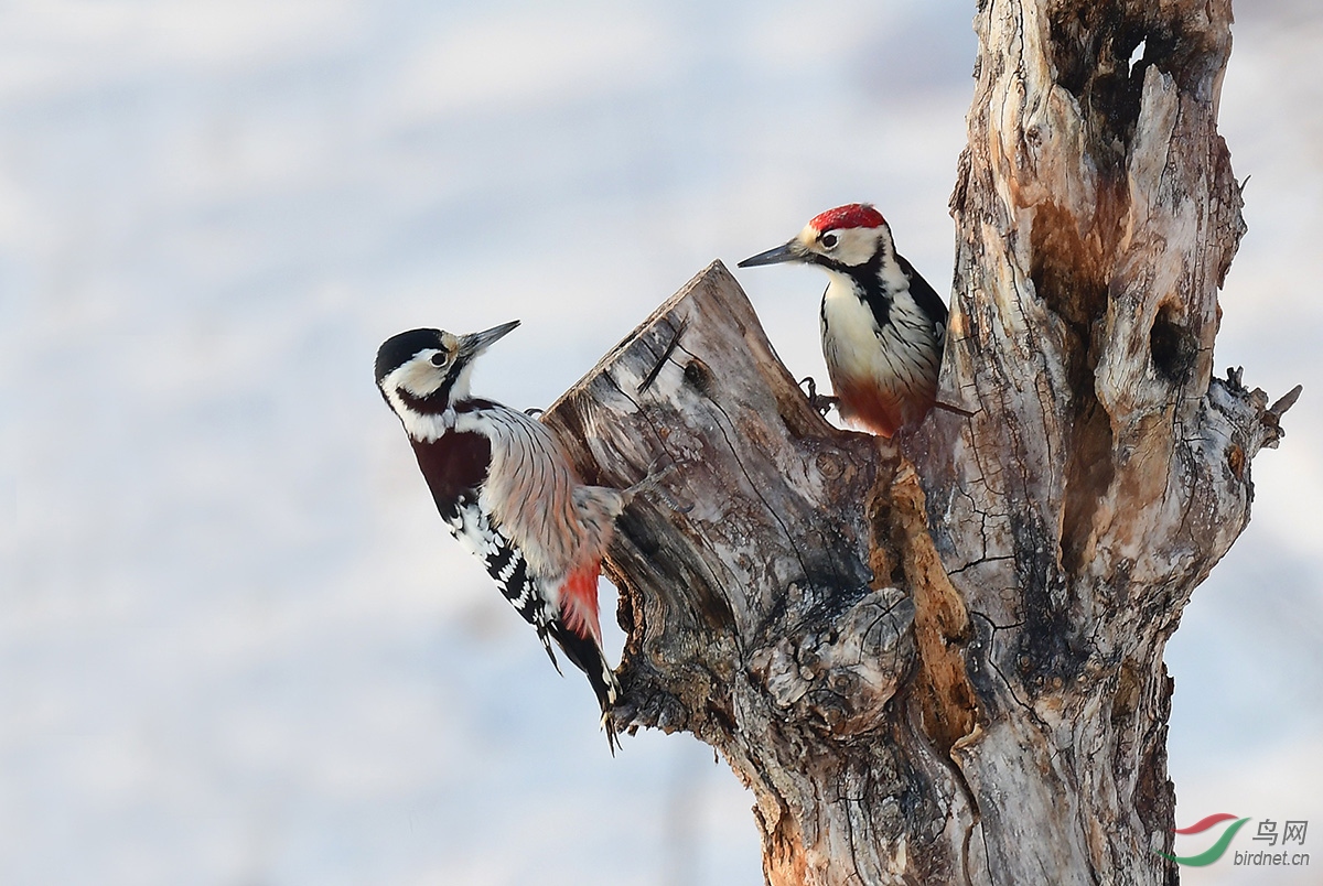
[[881,213],[869,204],[830,209],[740,267],[779,262],[818,264],[831,278],[823,357],[841,418],[881,436],[922,419],[937,402],[946,304],[896,253]]

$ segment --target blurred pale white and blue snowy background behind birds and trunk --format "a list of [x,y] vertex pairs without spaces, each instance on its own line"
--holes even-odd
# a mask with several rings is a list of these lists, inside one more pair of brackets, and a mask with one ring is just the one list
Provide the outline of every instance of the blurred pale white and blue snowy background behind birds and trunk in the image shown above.
[[[545,405],[709,261],[852,200],[945,290],[972,4],[548,5],[0,5],[0,882],[761,882],[709,750],[607,755],[443,532],[372,358],[519,317],[476,387]],[[1171,772],[1180,824],[1304,819],[1316,857],[1184,882],[1307,883],[1323,11],[1240,16],[1217,366],[1306,391],[1170,645]],[[741,279],[822,377],[820,278]]]

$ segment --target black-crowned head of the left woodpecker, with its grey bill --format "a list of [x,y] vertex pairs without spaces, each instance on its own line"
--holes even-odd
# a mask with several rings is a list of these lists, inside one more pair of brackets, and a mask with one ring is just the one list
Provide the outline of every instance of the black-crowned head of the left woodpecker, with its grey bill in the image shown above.
[[474,358],[519,325],[503,323],[456,336],[443,329],[410,329],[377,349],[377,387],[401,417],[438,414],[468,398]]

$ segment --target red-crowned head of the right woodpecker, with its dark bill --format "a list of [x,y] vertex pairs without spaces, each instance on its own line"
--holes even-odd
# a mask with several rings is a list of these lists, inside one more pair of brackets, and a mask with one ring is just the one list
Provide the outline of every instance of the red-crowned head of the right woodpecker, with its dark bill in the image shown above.
[[869,204],[847,204],[814,216],[787,243],[740,262],[740,267],[803,262],[849,274],[894,253],[892,231]]

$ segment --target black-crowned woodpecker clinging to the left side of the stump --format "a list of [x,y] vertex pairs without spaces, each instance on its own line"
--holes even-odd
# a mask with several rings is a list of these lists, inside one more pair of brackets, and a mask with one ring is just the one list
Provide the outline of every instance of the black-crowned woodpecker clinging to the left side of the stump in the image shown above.
[[614,754],[620,684],[602,652],[597,578],[615,517],[643,484],[583,485],[546,426],[468,393],[474,360],[517,325],[402,332],[377,352],[377,387],[451,534],[537,629],[556,669],[550,640],[587,674]]

